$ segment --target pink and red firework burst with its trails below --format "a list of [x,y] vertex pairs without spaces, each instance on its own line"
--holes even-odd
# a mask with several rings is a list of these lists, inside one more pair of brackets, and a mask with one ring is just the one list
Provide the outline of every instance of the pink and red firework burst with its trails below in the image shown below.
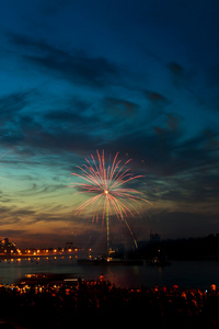
[[[102,214],[102,220],[106,222],[107,228],[107,248],[110,249],[110,228],[108,216],[116,215],[117,218],[124,222],[134,238],[134,234],[125,219],[125,217],[138,215],[138,207],[141,201],[148,202],[141,192],[134,189],[126,189],[125,184],[142,175],[134,175],[128,163],[131,159],[122,164],[118,160],[118,152],[113,159],[112,163],[106,163],[104,158],[104,150],[102,155],[96,150],[97,161],[91,155],[91,160],[85,159],[87,163],[78,167],[81,174],[71,173],[84,181],[84,183],[72,183],[70,186],[77,188],[78,193],[94,194],[76,209],[76,215],[82,214],[85,209],[93,211],[93,220],[99,220]],[[134,238],[137,247],[136,239]]]

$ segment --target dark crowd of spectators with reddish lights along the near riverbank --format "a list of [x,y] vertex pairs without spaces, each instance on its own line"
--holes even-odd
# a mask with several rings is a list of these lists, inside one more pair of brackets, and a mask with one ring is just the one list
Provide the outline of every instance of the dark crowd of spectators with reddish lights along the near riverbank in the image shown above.
[[0,319],[24,328],[219,328],[219,292],[158,287],[119,288],[103,275],[74,284],[2,285]]

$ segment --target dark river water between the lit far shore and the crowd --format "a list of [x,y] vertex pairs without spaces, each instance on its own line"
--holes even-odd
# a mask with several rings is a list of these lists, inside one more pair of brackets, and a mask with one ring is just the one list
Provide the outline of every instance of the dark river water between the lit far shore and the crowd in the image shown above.
[[120,287],[171,287],[177,284],[182,288],[208,290],[212,283],[219,287],[218,261],[172,261],[170,266],[126,266],[79,264],[74,256],[42,257],[34,259],[13,259],[0,262],[0,276],[3,284],[15,283],[27,273],[68,273],[84,280],[105,280]]

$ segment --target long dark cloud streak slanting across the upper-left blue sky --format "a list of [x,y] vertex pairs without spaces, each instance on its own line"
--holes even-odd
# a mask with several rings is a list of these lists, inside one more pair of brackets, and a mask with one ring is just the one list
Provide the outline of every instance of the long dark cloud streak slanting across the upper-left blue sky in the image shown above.
[[[103,88],[119,77],[119,69],[104,57],[91,57],[85,50],[66,50],[25,35],[8,32],[10,42],[18,48],[26,65],[44,73],[53,73],[73,84]],[[21,53],[22,52],[22,53]]]

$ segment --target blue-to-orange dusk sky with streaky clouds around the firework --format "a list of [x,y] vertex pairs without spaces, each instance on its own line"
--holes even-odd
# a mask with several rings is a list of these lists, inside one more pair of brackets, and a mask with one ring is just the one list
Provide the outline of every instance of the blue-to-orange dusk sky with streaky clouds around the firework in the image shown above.
[[137,240],[219,232],[218,18],[217,0],[0,0],[1,238],[103,241],[68,188],[96,149],[145,175]]

